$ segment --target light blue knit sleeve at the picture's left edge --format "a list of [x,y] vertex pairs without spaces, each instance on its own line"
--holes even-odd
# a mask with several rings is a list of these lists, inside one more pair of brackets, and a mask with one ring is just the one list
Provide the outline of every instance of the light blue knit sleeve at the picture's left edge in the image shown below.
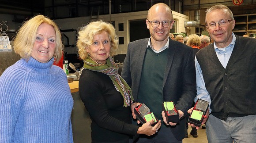
[[0,143],[12,143],[15,124],[25,100],[26,75],[7,68],[0,77]]

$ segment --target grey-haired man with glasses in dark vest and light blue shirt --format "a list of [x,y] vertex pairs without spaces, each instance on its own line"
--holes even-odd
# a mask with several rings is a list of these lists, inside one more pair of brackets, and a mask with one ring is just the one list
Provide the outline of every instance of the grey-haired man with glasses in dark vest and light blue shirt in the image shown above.
[[195,101],[200,98],[211,103],[208,142],[255,143],[256,39],[232,32],[235,20],[224,5],[209,8],[205,23],[214,43],[196,54]]

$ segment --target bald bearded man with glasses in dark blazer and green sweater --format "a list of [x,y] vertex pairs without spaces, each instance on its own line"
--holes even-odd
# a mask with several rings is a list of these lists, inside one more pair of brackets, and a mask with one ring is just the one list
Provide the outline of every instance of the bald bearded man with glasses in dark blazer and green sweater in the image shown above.
[[[196,70],[191,47],[171,40],[173,14],[166,4],[153,5],[147,15],[151,37],[128,44],[121,76],[132,87],[134,107],[144,103],[161,120],[154,136],[139,136],[136,143],[182,143],[185,136],[187,109],[196,96]],[[173,101],[180,122],[166,122],[162,102]]]

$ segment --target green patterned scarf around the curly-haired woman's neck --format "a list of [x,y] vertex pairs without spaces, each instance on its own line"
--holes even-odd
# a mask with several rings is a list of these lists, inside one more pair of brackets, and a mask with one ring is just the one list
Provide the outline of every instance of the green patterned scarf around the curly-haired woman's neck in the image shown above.
[[113,61],[113,57],[109,56],[105,64],[99,63],[90,56],[88,56],[83,62],[83,68],[109,75],[117,91],[119,91],[124,97],[124,107],[130,106],[130,104],[132,104],[132,90],[130,86],[128,86],[128,84],[124,81],[124,79],[117,73],[118,66]]

